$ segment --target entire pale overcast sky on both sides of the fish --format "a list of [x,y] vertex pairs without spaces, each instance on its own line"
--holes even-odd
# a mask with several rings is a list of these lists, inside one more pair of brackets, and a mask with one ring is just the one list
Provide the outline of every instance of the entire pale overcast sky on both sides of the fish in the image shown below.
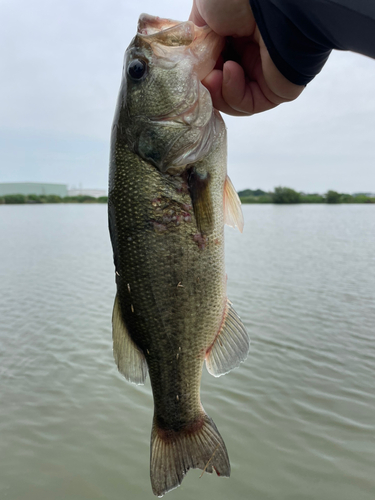
[[[124,51],[188,0],[0,0],[0,182],[106,188]],[[296,101],[224,116],[237,189],[375,192],[375,61],[335,52]]]

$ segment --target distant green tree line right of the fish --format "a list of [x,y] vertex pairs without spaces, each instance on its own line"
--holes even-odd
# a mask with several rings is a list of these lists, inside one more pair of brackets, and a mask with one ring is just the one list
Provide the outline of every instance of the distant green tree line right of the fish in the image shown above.
[[288,187],[276,187],[274,191],[266,192],[261,189],[245,189],[238,195],[242,203],[375,203],[375,197],[366,194],[346,194],[337,191],[327,191],[325,194],[306,194]]

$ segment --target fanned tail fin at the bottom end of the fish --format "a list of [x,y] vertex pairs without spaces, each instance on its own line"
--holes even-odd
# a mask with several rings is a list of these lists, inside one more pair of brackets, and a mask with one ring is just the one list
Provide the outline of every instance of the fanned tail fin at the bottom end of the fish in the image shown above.
[[218,476],[230,476],[225,443],[206,414],[179,432],[158,429],[154,418],[150,469],[152,491],[158,497],[180,486],[189,469],[215,470]]

